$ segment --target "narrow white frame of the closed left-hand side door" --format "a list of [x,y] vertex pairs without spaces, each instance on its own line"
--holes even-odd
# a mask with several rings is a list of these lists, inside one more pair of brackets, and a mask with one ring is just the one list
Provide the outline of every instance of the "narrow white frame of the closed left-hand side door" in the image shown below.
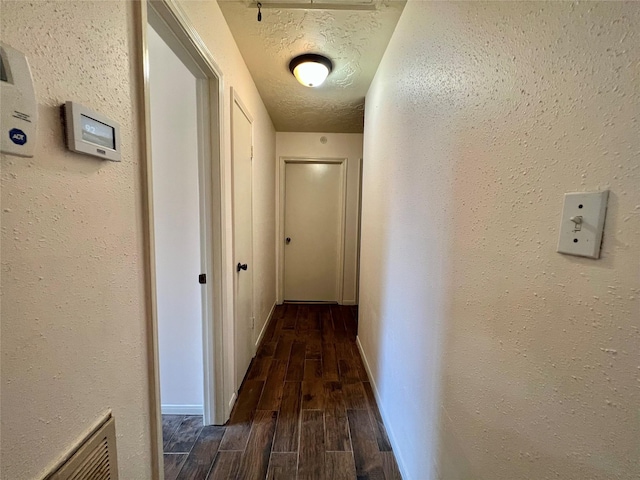
[[[235,151],[234,151],[234,134],[235,131],[233,129],[233,112],[234,112],[234,105],[236,104],[238,106],[238,108],[240,109],[240,111],[242,112],[242,114],[245,116],[245,118],[249,121],[249,124],[251,125],[251,184],[249,185],[249,188],[251,189],[251,203],[250,203],[250,210],[251,210],[251,231],[249,234],[249,243],[251,245],[251,252],[250,252],[250,258],[249,261],[247,263],[249,263],[249,265],[251,265],[251,268],[249,268],[249,270],[247,271],[247,273],[249,273],[251,275],[251,319],[252,319],[252,329],[251,329],[251,353],[252,355],[255,355],[256,353],[256,348],[255,348],[255,306],[254,306],[254,301],[255,301],[255,275],[253,274],[254,272],[254,262],[253,262],[253,257],[254,257],[254,245],[253,245],[253,140],[254,140],[254,131],[253,131],[253,116],[251,115],[251,113],[249,112],[249,109],[246,107],[246,105],[244,104],[244,102],[242,101],[242,99],[240,98],[240,95],[238,95],[238,92],[235,88],[231,87],[231,116],[230,116],[230,130],[231,130],[231,229],[232,229],[232,241],[231,241],[231,257],[233,258],[233,261],[235,263],[236,261],[236,256],[235,256],[235,238],[236,238],[236,225],[235,225],[235,204],[234,204],[234,189],[235,189],[235,182],[234,182],[234,171],[233,169],[235,168]],[[235,266],[235,265],[234,265]],[[237,374],[238,374],[238,365],[237,362],[235,361],[236,357],[235,357],[235,345],[236,345],[236,341],[237,341],[237,331],[236,331],[236,327],[238,325],[238,318],[237,318],[237,313],[238,313],[238,309],[236,306],[236,302],[237,302],[237,296],[235,294],[236,292],[236,281],[237,281],[237,274],[234,274],[233,277],[233,291],[234,291],[234,295],[233,295],[233,348],[234,348],[234,362],[233,362],[233,381],[234,381],[234,396],[231,399],[231,402],[235,402],[235,398],[237,395],[237,391],[240,388],[240,385],[235,385],[235,379],[237,378]]]

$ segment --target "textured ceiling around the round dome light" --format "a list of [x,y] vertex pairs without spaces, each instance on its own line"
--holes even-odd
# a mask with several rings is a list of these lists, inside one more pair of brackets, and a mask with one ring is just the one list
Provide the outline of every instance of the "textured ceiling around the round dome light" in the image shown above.
[[[218,3],[277,131],[362,132],[364,97],[404,0],[262,0],[261,22],[255,2]],[[318,88],[300,85],[289,71],[302,53],[333,62]]]

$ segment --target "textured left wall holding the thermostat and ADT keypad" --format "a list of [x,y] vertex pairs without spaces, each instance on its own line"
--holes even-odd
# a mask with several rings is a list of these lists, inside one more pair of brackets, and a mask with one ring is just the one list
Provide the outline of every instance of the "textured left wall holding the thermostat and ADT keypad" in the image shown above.
[[[40,114],[35,156],[1,160],[2,478],[37,478],[107,408],[121,478],[151,476],[133,8],[0,5]],[[65,148],[66,100],[120,123],[121,163]]]

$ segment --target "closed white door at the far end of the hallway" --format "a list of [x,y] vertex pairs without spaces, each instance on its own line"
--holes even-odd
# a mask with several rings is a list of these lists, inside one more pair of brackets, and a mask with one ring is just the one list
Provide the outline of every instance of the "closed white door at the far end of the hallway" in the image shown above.
[[340,300],[344,166],[285,163],[285,300]]

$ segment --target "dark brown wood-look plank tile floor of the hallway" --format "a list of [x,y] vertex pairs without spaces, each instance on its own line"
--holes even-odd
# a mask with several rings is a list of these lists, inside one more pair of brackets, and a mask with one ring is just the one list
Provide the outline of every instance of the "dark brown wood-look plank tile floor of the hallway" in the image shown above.
[[164,415],[165,478],[399,480],[355,307],[278,306],[226,426]]

